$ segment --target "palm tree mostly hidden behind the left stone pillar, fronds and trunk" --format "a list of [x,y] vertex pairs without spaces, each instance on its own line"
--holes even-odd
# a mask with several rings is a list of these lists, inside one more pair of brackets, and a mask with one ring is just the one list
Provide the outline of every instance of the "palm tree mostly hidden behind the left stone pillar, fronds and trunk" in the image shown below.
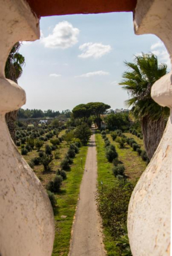
[[[22,66],[24,65],[24,56],[18,53],[21,43],[15,43],[11,52],[8,55],[8,59],[5,65],[5,77],[17,83],[18,78],[22,74]],[[7,126],[11,134],[11,138],[16,142],[15,138],[15,120],[17,118],[18,110],[9,112],[5,115]]]

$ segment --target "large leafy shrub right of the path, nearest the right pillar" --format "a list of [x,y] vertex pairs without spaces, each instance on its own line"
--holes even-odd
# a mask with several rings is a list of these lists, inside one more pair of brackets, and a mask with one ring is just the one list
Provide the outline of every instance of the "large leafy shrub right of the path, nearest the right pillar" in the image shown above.
[[133,186],[130,182],[125,179],[116,179],[113,187],[104,188],[103,194],[99,194],[98,210],[103,219],[103,225],[109,228],[114,239],[123,235],[123,225],[127,220],[132,191]]

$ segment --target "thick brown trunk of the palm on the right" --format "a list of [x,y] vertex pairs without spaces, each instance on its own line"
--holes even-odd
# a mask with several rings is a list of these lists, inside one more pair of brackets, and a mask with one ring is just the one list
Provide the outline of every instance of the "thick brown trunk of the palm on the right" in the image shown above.
[[161,117],[157,121],[152,121],[149,116],[144,116],[141,120],[141,125],[146,154],[149,160],[151,160],[163,136],[165,120]]

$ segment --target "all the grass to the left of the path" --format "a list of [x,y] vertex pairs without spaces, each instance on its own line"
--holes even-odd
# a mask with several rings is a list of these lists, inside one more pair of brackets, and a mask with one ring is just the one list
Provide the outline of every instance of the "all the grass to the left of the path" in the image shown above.
[[[60,132],[59,137],[61,137],[63,134],[65,134],[65,130]],[[53,138],[55,138],[55,136]],[[41,150],[44,150],[46,144],[51,145],[50,140],[44,142]],[[60,162],[65,157],[68,148],[69,145],[66,143],[66,141],[62,141],[62,143],[58,146],[60,159],[53,159],[52,170],[50,172],[43,172],[43,165],[34,166],[34,173],[36,173],[44,188],[46,188],[47,183],[52,181],[55,177],[56,170],[60,168]],[[54,210],[55,242],[52,256],[66,256],[69,252],[72,223],[78,202],[79,187],[84,172],[87,149],[87,146],[79,148],[79,153],[76,154],[74,158],[74,163],[71,165],[71,170],[66,172],[67,179],[62,182],[61,191],[58,194],[55,194],[58,206]],[[18,150],[21,152],[21,147],[18,147]],[[55,151],[52,151],[53,154],[54,152]],[[33,150],[28,152],[28,154],[23,157],[27,162],[29,162],[33,157],[37,156],[39,156],[39,153],[37,150]],[[82,170],[81,157],[83,166]],[[67,216],[66,219],[62,219],[62,215]]]

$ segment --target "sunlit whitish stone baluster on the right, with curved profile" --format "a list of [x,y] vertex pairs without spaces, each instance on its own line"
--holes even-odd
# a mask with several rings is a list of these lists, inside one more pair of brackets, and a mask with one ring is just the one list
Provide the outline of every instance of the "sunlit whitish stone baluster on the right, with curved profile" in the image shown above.
[[[171,57],[171,0],[138,0],[134,25],[136,34],[160,37]],[[151,96],[161,106],[172,109],[171,72],[152,86]],[[157,151],[130,199],[128,233],[133,256],[170,255],[171,160],[172,110]]]

